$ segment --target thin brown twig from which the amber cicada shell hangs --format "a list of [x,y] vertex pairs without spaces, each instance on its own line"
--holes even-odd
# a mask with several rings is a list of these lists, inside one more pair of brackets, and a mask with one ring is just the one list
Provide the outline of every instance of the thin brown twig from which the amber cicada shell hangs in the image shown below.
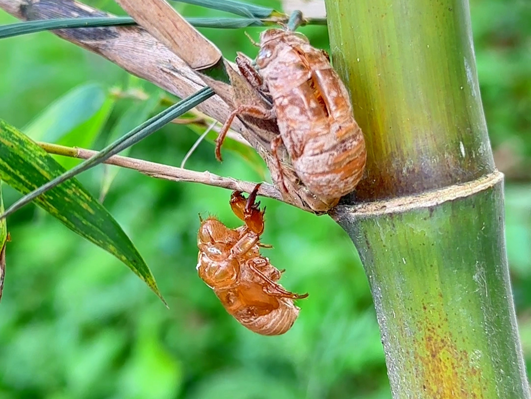
[[[39,142],[38,145],[49,154],[62,155],[71,158],[89,159],[90,157],[98,154],[98,151],[87,150],[84,148],[65,147],[44,142]],[[170,180],[174,182],[201,183],[246,193],[251,193],[256,185],[256,183],[236,180],[232,179],[232,177],[218,176],[208,171],[190,171],[189,169],[183,169],[176,166],[158,164],[142,159],[122,157],[119,155],[110,157],[104,163],[124,167],[127,169],[133,169],[147,176],[155,177],[156,179]],[[258,195],[282,201],[280,192],[273,185],[268,183],[262,183],[260,189],[258,190]]]

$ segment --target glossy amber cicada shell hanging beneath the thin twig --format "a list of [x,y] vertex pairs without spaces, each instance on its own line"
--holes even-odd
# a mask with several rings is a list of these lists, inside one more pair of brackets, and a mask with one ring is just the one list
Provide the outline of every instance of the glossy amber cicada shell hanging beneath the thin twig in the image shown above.
[[251,331],[280,335],[289,330],[299,314],[294,299],[306,298],[286,291],[277,283],[282,271],[260,254],[264,210],[254,203],[260,184],[248,199],[239,191],[230,197],[234,214],[245,226],[231,229],[215,217],[201,220],[198,233],[197,270],[214,290],[227,312]]

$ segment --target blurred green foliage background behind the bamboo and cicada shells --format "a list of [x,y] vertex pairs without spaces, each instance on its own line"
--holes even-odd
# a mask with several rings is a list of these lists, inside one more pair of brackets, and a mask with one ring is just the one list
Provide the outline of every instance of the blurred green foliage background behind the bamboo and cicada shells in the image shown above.
[[[89,4],[120,13],[112,1]],[[267,0],[259,4],[281,7]],[[530,4],[470,4],[486,119],[496,163],[507,175],[507,247],[528,370]],[[189,16],[221,15],[177,7]],[[15,19],[0,11],[0,23],[11,22]],[[244,30],[202,31],[230,59],[236,50],[256,53]],[[260,29],[246,31],[256,38]],[[315,46],[327,47],[326,28],[302,31]],[[0,54],[0,118],[40,140],[101,148],[161,109],[159,89],[52,33],[2,40]],[[112,88],[144,92],[150,99],[117,98],[109,94]],[[130,154],[178,166],[196,133],[184,125],[167,126]],[[224,159],[217,163],[213,146],[203,142],[187,167],[262,180],[237,154],[225,151]],[[72,166],[72,160],[61,162]],[[98,196],[102,181],[115,173],[98,167],[80,180]],[[3,189],[6,205],[19,198]],[[170,310],[116,258],[35,206],[10,217],[0,304],[0,399],[390,398],[364,271],[347,235],[328,217],[262,200],[263,242],[275,246],[267,256],[287,269],[285,287],[310,297],[299,302],[301,316],[284,336],[256,335],[227,315],[196,274],[195,240],[200,212],[239,225],[228,198],[226,190],[157,181],[133,171],[115,176],[104,205],[150,265]]]

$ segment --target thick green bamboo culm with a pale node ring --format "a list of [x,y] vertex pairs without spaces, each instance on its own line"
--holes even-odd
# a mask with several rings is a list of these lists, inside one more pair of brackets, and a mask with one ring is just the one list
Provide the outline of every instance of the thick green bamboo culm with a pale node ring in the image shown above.
[[367,145],[332,217],[362,259],[394,399],[529,399],[467,0],[326,0]]

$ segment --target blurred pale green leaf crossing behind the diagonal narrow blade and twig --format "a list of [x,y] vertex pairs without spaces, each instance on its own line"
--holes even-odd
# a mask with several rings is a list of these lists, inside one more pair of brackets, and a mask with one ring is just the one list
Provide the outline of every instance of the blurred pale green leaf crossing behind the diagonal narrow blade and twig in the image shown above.
[[[134,104],[129,109],[127,109],[127,111],[118,120],[113,130],[110,132],[108,142],[112,143],[131,129],[134,129],[135,126],[138,126],[143,121],[147,120],[149,115],[153,111],[155,111],[155,107],[158,104],[158,96],[151,96],[147,101],[140,101],[139,103]],[[129,154],[130,149],[131,147],[123,150],[122,155],[127,156]],[[101,182],[99,198],[100,201],[103,201],[104,198],[107,196],[107,192],[110,189],[110,185],[113,183],[113,180],[115,179],[120,169],[121,168],[117,166],[105,165],[105,175],[104,179]]]

